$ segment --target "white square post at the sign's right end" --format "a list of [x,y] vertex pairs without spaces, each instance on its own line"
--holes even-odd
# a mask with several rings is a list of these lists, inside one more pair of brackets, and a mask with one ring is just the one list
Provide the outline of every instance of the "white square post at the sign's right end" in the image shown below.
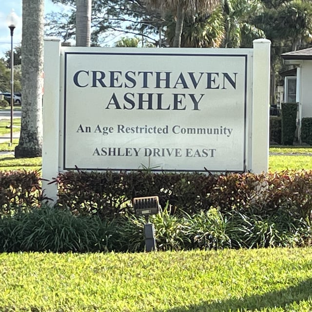
[[270,48],[270,40],[254,40],[251,168],[255,174],[269,169]]

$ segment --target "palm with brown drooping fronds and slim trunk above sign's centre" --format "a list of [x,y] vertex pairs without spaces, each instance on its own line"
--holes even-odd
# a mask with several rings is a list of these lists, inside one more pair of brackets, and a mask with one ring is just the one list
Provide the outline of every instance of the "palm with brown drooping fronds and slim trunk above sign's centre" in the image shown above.
[[186,12],[211,13],[222,0],[144,0],[147,7],[159,9],[163,13],[172,13],[176,20],[174,47],[181,46],[181,35]]

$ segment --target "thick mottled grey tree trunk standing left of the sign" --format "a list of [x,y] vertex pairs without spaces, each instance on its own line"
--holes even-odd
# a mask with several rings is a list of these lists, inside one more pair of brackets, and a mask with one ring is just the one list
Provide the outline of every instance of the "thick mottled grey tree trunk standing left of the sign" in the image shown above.
[[20,142],[15,157],[42,156],[44,0],[22,0]]

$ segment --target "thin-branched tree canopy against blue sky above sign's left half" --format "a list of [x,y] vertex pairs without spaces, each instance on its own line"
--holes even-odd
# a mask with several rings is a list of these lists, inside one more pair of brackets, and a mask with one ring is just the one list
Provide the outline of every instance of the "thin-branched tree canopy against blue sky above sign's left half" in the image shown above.
[[[76,1],[52,0],[68,5],[67,13],[51,13],[46,16],[46,35],[68,41],[75,36]],[[93,0],[91,45],[113,45],[119,35],[143,36],[158,43],[158,30],[163,18],[157,11],[147,8],[141,0]],[[155,36],[156,35],[156,36]]]

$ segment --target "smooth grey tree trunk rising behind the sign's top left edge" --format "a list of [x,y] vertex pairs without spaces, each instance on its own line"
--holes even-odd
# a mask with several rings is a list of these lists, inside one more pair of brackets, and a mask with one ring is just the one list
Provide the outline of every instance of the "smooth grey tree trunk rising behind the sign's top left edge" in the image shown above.
[[76,0],[76,46],[89,47],[92,0]]

